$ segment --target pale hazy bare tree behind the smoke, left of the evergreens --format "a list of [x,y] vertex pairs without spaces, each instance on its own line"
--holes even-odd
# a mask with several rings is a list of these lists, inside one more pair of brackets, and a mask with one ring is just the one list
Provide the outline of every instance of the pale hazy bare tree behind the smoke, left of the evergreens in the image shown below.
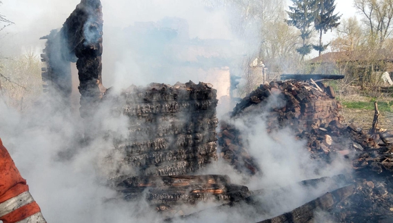
[[[205,3],[230,14],[232,31],[244,44],[241,54],[245,56],[233,69],[242,77],[239,95],[247,95],[262,84],[262,68],[250,66],[253,61],[283,70],[279,61],[287,61],[294,55],[299,38],[293,35],[296,30],[284,22],[285,0],[205,0]],[[292,63],[282,64],[286,67]]]

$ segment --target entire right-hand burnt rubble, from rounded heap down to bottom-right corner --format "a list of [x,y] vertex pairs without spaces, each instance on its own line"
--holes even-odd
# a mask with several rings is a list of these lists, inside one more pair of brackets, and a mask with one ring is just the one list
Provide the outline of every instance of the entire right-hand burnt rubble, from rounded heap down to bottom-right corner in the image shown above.
[[[392,222],[393,135],[369,134],[353,124],[346,126],[341,109],[334,90],[322,83],[276,81],[261,85],[236,105],[229,122],[221,122],[221,157],[242,173],[263,174],[248,153],[245,136],[230,124],[263,114],[268,132],[289,126],[299,140],[305,140],[311,159],[329,163],[341,156],[352,163],[355,174],[348,183],[353,188],[345,189],[345,199],[325,209],[336,222]],[[312,222],[312,217],[304,218],[312,202],[264,222]]]

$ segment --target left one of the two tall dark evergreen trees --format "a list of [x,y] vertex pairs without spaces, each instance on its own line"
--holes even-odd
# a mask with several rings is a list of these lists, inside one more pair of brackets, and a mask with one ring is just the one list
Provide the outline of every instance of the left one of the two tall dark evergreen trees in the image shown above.
[[301,59],[304,59],[305,55],[308,55],[312,50],[312,44],[309,43],[309,39],[312,37],[312,30],[310,27],[315,19],[315,0],[291,0],[293,6],[290,6],[288,16],[290,19],[287,21],[288,25],[298,28],[301,32],[301,39],[303,44],[296,51],[301,55]]

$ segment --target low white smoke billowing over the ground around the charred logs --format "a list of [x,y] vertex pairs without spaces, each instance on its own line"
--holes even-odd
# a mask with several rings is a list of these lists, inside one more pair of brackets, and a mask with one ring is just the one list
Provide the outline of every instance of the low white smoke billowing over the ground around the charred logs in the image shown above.
[[[148,209],[144,201],[112,200],[118,197],[108,188],[108,177],[111,177],[108,174],[114,166],[105,161],[112,145],[111,139],[104,139],[103,135],[105,130],[125,133],[123,124],[126,122],[125,117],[108,115],[108,106],[104,104],[95,119],[95,128],[101,126],[103,131],[98,130],[92,143],[85,146],[78,137],[82,134],[81,122],[68,113],[41,107],[19,114],[0,104],[3,144],[28,180],[30,191],[48,222],[159,222],[159,216]],[[99,120],[104,121],[98,124]],[[345,172],[345,164],[339,160],[331,166],[323,166],[324,169],[311,162],[303,142],[296,142],[285,130],[276,133],[275,139],[268,136],[261,117],[237,120],[236,126],[247,135],[250,153],[258,159],[263,175],[245,180],[223,160],[201,173],[227,174],[232,183],[248,182],[246,186],[250,190],[265,188],[271,193],[259,198],[258,209],[243,204],[219,212],[207,211],[179,222],[256,222],[274,217],[334,189],[323,184],[312,189],[302,188],[297,182]],[[198,209],[208,206],[214,204],[199,204]]]

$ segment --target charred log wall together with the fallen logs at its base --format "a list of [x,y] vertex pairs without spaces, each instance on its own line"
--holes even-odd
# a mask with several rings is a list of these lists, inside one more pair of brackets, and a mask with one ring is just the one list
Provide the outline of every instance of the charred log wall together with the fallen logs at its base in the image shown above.
[[248,188],[231,184],[226,175],[191,175],[217,160],[216,90],[211,84],[131,86],[104,101],[122,105],[128,136],[117,137],[120,162],[135,171],[115,177],[125,200],[146,200],[164,216],[182,215],[184,204],[244,200]]

